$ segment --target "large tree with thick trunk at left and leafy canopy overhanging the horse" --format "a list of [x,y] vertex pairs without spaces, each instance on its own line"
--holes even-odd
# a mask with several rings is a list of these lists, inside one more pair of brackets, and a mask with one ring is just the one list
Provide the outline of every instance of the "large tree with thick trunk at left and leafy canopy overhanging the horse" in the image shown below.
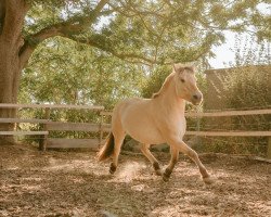
[[[1,0],[0,103],[17,102],[22,69],[48,38],[69,38],[132,63],[195,61],[223,41],[224,29],[270,37],[260,2],[268,1]],[[14,114],[0,111],[0,117]]]

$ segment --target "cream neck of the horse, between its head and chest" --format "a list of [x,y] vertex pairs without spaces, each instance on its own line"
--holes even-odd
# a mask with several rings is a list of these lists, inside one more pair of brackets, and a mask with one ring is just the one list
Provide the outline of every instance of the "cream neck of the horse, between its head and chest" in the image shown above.
[[167,90],[157,100],[166,108],[168,114],[184,115],[185,100],[180,99],[176,92],[175,82],[171,81]]

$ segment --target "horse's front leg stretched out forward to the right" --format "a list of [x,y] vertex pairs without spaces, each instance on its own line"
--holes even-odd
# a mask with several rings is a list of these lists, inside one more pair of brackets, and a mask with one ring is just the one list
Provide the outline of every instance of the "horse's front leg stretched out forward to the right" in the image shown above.
[[202,175],[202,178],[205,183],[212,183],[212,179],[210,178],[210,175],[208,174],[207,169],[198,158],[197,153],[191,149],[188,144],[185,144],[179,137],[172,137],[168,140],[170,146],[175,146],[182,153],[186,154],[195,164],[197,165],[199,173]]

